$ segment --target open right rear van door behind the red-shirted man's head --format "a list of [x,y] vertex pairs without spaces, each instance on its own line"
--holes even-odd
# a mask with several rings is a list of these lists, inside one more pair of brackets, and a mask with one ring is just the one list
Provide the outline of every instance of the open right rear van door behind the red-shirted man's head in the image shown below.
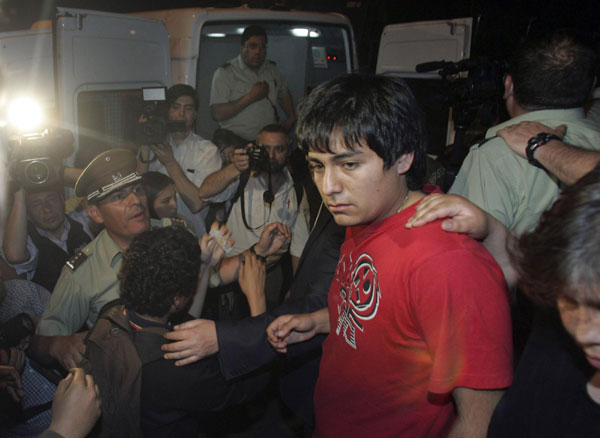
[[[400,76],[421,103],[429,133],[429,152],[441,154],[452,141],[452,120],[443,105],[438,69],[417,73],[418,64],[457,62],[470,56],[472,18],[392,24],[384,28],[377,55],[377,73]],[[433,90],[433,93],[432,93]]]

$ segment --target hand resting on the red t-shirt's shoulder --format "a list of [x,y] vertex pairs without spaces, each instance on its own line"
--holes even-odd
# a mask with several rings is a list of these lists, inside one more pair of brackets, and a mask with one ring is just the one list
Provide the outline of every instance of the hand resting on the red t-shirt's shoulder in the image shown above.
[[488,213],[457,195],[434,193],[426,196],[416,207],[415,214],[406,222],[406,228],[420,227],[437,219],[444,219],[444,231],[463,233],[477,240],[489,234]]

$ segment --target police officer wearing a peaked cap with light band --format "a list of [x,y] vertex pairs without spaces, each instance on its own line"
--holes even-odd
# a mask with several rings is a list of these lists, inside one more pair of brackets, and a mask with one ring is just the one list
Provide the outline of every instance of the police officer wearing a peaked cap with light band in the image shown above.
[[75,194],[86,197],[90,218],[104,230],[62,270],[32,342],[31,352],[42,363],[76,366],[85,351],[85,333],[77,330],[91,327],[102,306],[119,297],[122,252],[150,226],[136,163],[132,152],[112,149],[94,158],[77,180]]

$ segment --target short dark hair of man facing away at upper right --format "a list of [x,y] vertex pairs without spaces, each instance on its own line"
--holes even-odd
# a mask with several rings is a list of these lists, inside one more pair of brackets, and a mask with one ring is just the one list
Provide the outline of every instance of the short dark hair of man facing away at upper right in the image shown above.
[[572,31],[530,40],[510,62],[514,96],[529,111],[582,107],[590,96],[597,63],[594,48]]

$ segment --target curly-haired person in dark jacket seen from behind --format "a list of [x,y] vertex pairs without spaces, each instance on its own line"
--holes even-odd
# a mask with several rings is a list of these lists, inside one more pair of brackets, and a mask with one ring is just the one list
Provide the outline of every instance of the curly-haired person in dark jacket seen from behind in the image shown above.
[[203,413],[263,384],[226,383],[216,357],[186,367],[163,358],[163,334],[190,319],[200,253],[197,238],[176,226],[142,233],[124,253],[120,303],[103,312],[86,340],[86,368],[102,394],[103,436],[193,436]]

